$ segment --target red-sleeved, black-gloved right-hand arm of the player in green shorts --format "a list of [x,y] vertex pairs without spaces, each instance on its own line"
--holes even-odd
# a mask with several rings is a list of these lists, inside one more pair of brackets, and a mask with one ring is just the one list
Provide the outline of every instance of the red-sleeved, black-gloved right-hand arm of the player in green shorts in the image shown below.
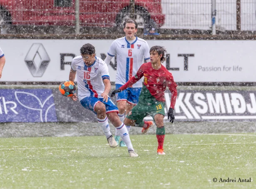
[[170,78],[167,80],[167,86],[169,88],[169,90],[171,91],[171,106],[168,110],[168,119],[170,118],[170,122],[173,123],[174,122],[174,106],[176,103],[176,99],[177,99],[177,84],[174,82],[172,75],[170,76]]

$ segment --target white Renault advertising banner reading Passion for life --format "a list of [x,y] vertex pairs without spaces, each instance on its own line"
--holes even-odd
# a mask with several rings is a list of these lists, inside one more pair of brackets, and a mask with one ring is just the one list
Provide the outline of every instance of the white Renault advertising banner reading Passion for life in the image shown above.
[[[6,63],[0,81],[64,81],[72,58],[91,43],[104,59],[113,40],[0,39]],[[176,82],[256,82],[256,41],[148,40],[167,49],[164,66]],[[120,47],[121,48],[121,47]],[[115,81],[114,58],[109,65]]]

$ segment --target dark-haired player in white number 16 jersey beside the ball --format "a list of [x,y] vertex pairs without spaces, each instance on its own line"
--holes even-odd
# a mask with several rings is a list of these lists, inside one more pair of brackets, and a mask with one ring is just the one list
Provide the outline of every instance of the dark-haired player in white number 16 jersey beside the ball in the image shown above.
[[[76,56],[72,60],[69,76],[70,81],[74,82],[77,75],[80,103],[84,108],[97,115],[98,123],[106,135],[110,147],[117,147],[117,142],[113,140],[113,136],[110,133],[108,119],[118,130],[118,134],[127,145],[129,155],[137,157],[138,155],[134,152],[127,128],[117,115],[118,108],[108,96],[111,84],[107,64],[95,56],[95,48],[92,44],[83,45],[80,53],[81,56]],[[73,94],[70,98],[73,101],[77,101],[76,94]]]

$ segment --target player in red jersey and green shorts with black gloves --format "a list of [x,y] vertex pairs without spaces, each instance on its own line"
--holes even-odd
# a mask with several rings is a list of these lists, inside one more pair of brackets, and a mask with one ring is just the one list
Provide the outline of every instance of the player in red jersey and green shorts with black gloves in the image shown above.
[[144,76],[144,83],[142,91],[139,96],[139,102],[136,106],[129,111],[128,115],[124,119],[125,125],[131,125],[142,128],[142,133],[147,133],[147,130],[152,126],[147,121],[143,121],[143,118],[147,115],[151,115],[154,123],[157,125],[157,153],[159,155],[165,155],[164,153],[164,91],[166,87],[171,91],[171,106],[167,113],[170,122],[174,122],[174,106],[177,98],[176,83],[174,82],[172,74],[161,64],[165,61],[164,53],[166,50],[161,46],[154,46],[150,49],[150,62],[142,64],[137,71],[137,74],[133,76],[127,83],[120,88],[114,90],[111,96],[115,93],[119,93],[124,89],[132,86],[134,83]]

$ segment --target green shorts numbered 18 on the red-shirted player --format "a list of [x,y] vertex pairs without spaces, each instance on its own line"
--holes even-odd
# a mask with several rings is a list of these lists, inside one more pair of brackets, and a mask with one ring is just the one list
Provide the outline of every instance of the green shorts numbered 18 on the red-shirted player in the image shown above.
[[154,105],[149,106],[137,103],[137,105],[134,106],[131,111],[129,111],[126,117],[130,120],[136,120],[136,123],[141,123],[143,118],[145,118],[147,115],[151,115],[154,120],[154,116],[156,114],[165,115],[164,106],[165,102],[160,101],[157,101]]

